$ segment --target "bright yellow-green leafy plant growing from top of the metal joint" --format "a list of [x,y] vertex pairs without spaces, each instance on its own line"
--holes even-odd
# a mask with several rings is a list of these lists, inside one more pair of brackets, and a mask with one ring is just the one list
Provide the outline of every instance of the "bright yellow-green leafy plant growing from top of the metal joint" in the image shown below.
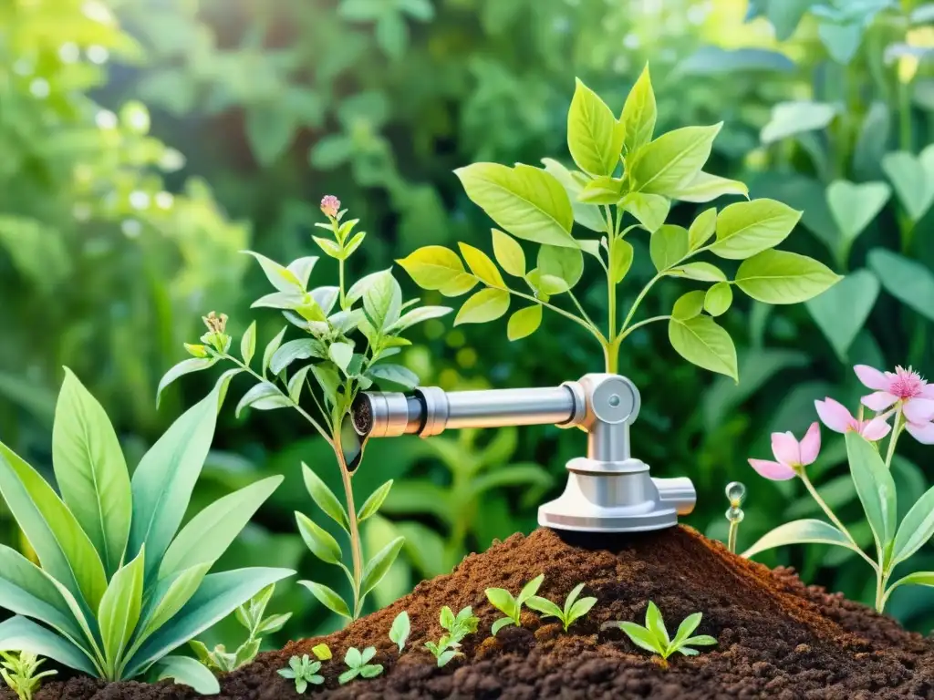
[[[455,325],[500,318],[516,298],[527,305],[509,319],[510,340],[538,329],[543,309],[548,309],[586,329],[603,349],[606,371],[616,372],[620,344],[634,330],[664,321],[679,355],[737,379],[736,349],[727,330],[714,320],[729,309],[733,287],[757,301],[788,304],[812,299],[840,277],[817,260],[772,249],[801,216],[774,200],[733,203],[719,213],[707,209],[688,229],[666,224],[674,201],[705,203],[722,195],[748,196],[748,190],[741,182],[702,170],[722,123],[654,137],[656,119],[647,67],[619,119],[578,80],[568,114],[568,147],[579,170],[544,159],[544,168],[478,162],[456,171],[467,196],[503,230],[492,231],[496,262],[464,243],[460,255],[466,268],[457,253],[441,245],[419,248],[398,262],[419,287],[447,297],[466,294],[477,284],[482,287],[460,307]],[[574,237],[575,222],[597,237]],[[631,240],[639,235],[637,230],[650,234],[648,247],[657,273],[620,323],[617,287],[630,271],[635,254]],[[534,264],[527,261],[517,238],[540,246]],[[742,263],[729,280],[715,264],[698,259],[702,253]],[[573,293],[586,259],[596,260],[606,275],[605,329]],[[501,268],[526,288],[514,288]],[[645,296],[671,277],[708,287],[686,292],[670,314],[637,321]],[[563,307],[558,299],[566,300]]]

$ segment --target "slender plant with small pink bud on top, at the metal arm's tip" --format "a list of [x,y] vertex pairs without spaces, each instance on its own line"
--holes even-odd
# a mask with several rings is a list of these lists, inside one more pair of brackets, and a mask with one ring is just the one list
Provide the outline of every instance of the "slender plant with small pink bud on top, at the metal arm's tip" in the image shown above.
[[[347,574],[351,599],[345,600],[328,586],[315,581],[300,581],[326,608],[348,620],[361,615],[363,601],[383,578],[399,550],[403,538],[389,542],[365,563],[361,546],[360,524],[373,516],[389,494],[392,482],[384,483],[361,506],[355,507],[352,478],[360,467],[363,447],[354,431],[348,411],[357,392],[374,384],[411,388],[418,377],[402,365],[389,362],[405,345],[403,332],[417,323],[448,314],[445,306],[417,306],[418,300],[403,303],[402,289],[384,270],[362,277],[347,286],[345,263],[362,244],[366,233],[354,231],[359,219],[345,220],[336,197],[321,200],[321,212],[327,223],[316,226],[330,238],[313,236],[318,247],[337,260],[336,286],[308,287],[317,257],[292,260],[280,265],[259,253],[247,251],[257,259],[269,283],[276,291],[253,302],[254,307],[277,309],[303,337],[283,343],[285,326],[266,345],[259,371],[252,366],[256,354],[256,324],[250,325],[240,341],[240,357],[230,353],[231,337],[226,333],[226,316],[208,315],[208,332],[201,344],[187,344],[193,356],[166,372],[159,390],[183,374],[213,367],[219,362],[233,364],[225,377],[245,373],[256,380],[237,405],[236,413],[246,407],[269,411],[291,408],[333,448],[344,485],[346,507],[334,496],[318,475],[303,465],[304,483],[321,511],[347,533],[351,566],[344,563],[340,544],[322,527],[302,513],[296,513],[299,532],[309,549],[321,561]],[[303,363],[304,360],[310,360]],[[310,401],[306,408],[302,405]]]

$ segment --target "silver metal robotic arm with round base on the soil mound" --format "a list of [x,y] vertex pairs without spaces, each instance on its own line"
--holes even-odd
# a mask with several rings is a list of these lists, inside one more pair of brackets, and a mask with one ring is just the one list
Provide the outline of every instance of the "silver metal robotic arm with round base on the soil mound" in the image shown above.
[[676,525],[697,499],[690,479],[655,479],[648,465],[630,455],[630,425],[640,403],[639,390],[626,377],[586,374],[549,388],[446,392],[425,386],[411,395],[362,393],[352,419],[357,432],[371,438],[428,438],[460,427],[580,427],[587,431],[587,456],[568,462],[564,493],[539,508],[539,525],[638,532]]

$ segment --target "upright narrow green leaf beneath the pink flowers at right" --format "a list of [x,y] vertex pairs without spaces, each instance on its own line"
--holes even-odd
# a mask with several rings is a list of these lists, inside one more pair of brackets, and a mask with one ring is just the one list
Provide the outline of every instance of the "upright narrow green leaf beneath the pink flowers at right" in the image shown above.
[[895,539],[898,518],[895,480],[875,445],[858,433],[846,433],[846,455],[856,494],[866,511],[878,551],[885,552]]

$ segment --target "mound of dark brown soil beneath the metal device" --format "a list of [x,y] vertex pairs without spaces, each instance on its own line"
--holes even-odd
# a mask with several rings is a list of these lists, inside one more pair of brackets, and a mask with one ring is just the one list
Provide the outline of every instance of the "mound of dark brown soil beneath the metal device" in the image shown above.
[[[573,546],[574,545],[574,546]],[[487,602],[492,586],[516,593],[539,573],[539,595],[563,600],[585,581],[584,595],[599,602],[571,634],[523,613],[522,628],[496,638],[489,626],[500,613]],[[676,654],[662,667],[615,629],[601,623],[642,623],[654,600],[669,630],[692,612],[703,612],[696,634],[719,640],[700,656]],[[465,658],[436,668],[424,650],[441,636],[438,612],[471,605],[480,617],[467,637]],[[412,621],[409,646],[400,658],[389,624],[401,610]],[[540,529],[513,536],[487,553],[472,554],[447,576],[420,583],[389,608],[329,637],[290,643],[263,653],[255,664],[221,680],[222,698],[274,700],[299,697],[276,675],[292,654],[310,653],[325,641],[334,659],[322,668],[323,688],[306,697],[327,698],[934,698],[934,642],[840,595],[808,588],[789,570],[771,571],[734,556],[688,527],[599,541],[564,540]],[[383,676],[340,687],[339,661],[348,646],[375,646]],[[711,649],[711,648],[707,648]],[[87,678],[50,683],[35,700],[193,700],[184,686],[167,682],[106,685]],[[0,693],[12,700],[10,693]]]

